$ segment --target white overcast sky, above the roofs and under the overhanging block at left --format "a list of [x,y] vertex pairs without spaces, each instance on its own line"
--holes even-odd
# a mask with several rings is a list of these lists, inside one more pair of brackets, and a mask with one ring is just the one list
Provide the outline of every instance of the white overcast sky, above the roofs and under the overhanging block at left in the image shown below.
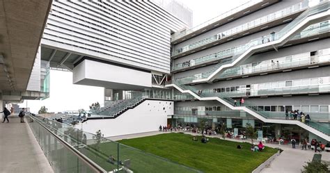
[[[248,0],[177,0],[190,8],[193,15],[194,26],[217,17],[232,8],[235,8]],[[50,72],[50,97],[42,101],[27,101],[27,107],[32,113],[38,113],[41,106],[46,106],[49,112],[61,112],[64,110],[88,109],[92,103],[99,101],[103,104],[104,89],[92,86],[72,84],[72,73],[52,70]],[[26,107],[26,101],[19,104]]]

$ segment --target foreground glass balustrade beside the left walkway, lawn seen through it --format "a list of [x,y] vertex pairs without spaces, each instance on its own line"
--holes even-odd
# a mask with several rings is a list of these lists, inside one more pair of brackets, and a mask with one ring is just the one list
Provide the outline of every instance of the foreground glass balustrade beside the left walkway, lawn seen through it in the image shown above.
[[200,172],[119,142],[113,142],[103,138],[102,135],[65,126],[45,117],[36,115],[28,118],[30,118],[29,126],[55,172],[95,171],[63,147],[58,140],[54,140],[54,135],[47,133],[47,129],[106,172]]

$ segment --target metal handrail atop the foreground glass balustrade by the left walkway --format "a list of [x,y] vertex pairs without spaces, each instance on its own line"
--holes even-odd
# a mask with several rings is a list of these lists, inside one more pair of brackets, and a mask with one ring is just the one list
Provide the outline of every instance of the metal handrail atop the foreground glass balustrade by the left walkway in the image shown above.
[[66,147],[67,149],[69,149],[70,151],[72,151],[72,154],[74,154],[75,156],[77,156],[78,158],[80,158],[82,161],[84,161],[84,163],[86,163],[87,165],[89,165],[93,170],[95,170],[95,172],[107,172],[102,167],[100,167],[100,165],[97,165],[95,162],[93,162],[93,160],[89,159],[84,154],[81,154],[81,152],[79,152],[77,149],[75,149],[70,144],[68,144],[68,142],[65,142],[65,140],[63,140],[61,137],[59,137],[54,132],[52,132],[50,129],[48,129],[45,125],[43,125],[40,122],[40,120],[38,120],[38,118],[31,116],[30,113],[28,113],[28,114],[29,114],[29,117],[33,119],[33,121],[38,122],[38,124],[40,124],[40,126],[42,126],[49,133],[51,133],[59,142],[61,142],[63,144],[64,147]]

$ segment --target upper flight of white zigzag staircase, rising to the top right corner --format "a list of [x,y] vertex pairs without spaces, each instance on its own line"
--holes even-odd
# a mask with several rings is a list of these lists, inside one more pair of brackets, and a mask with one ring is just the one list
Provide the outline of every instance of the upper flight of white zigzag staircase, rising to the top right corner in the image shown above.
[[[283,44],[288,42],[288,40],[294,37],[294,35],[296,35],[297,33],[300,33],[307,26],[329,19],[330,16],[329,6],[330,6],[330,2],[326,2],[326,3],[320,3],[320,5],[315,6],[313,8],[309,8],[304,13],[299,15],[299,17],[297,17],[292,22],[290,22],[288,26],[285,26],[285,28],[279,31],[278,34],[275,34],[274,38],[279,37],[277,40],[275,39],[271,42],[267,42],[263,44],[258,43],[258,45],[256,46],[249,47],[249,49],[244,51],[244,53],[234,56],[233,63],[227,65],[221,65],[221,64],[216,65],[214,67],[216,70],[214,72],[212,72],[213,70],[211,70],[212,73],[210,74],[210,76],[207,76],[207,78],[204,79],[193,80],[192,83],[205,83],[205,82],[210,83],[217,78],[218,74],[224,72],[224,70],[230,67],[234,67],[239,62],[246,60],[246,58],[249,58],[256,51],[261,51],[269,48],[276,49],[276,47],[283,46]],[[285,34],[281,36],[280,35],[281,33],[285,33]]]

